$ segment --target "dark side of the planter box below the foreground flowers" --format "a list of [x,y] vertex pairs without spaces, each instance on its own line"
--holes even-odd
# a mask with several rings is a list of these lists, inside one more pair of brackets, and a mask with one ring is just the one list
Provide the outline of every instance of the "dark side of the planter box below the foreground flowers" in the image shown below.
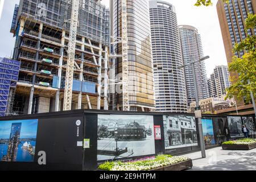
[[151,171],[183,171],[185,169],[191,169],[192,167],[193,167],[193,163],[192,163],[192,160],[190,159],[184,162],[173,164],[171,166],[152,169]]

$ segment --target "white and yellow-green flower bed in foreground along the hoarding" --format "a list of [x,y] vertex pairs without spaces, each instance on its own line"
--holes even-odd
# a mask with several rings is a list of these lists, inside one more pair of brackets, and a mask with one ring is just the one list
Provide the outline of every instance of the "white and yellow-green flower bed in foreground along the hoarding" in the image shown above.
[[[171,155],[159,155],[153,158],[136,160],[133,162],[106,162],[101,164],[98,168],[104,171],[150,171],[154,169],[159,169],[173,166],[175,164],[179,165],[183,162],[188,162],[189,164],[184,164],[181,169],[187,169],[192,167],[192,160],[183,156],[171,156]],[[166,168],[167,169],[167,168]]]

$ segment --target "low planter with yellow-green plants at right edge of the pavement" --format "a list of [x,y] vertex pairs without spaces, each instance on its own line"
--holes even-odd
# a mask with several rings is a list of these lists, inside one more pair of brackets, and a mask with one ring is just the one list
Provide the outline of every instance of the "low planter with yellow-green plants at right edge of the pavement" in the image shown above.
[[224,150],[251,150],[256,148],[256,139],[246,138],[222,143]]

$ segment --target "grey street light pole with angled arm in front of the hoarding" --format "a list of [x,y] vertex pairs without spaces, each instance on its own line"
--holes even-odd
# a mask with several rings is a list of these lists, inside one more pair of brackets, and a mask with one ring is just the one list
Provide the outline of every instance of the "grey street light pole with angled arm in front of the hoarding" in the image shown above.
[[201,59],[194,61],[193,56],[191,56],[191,63],[182,65],[179,67],[179,69],[187,67],[187,66],[192,66],[192,73],[193,73],[193,81],[194,81],[194,86],[195,86],[195,95],[196,95],[196,107],[195,107],[195,114],[196,118],[198,119],[198,127],[199,127],[199,138],[200,138],[200,147],[201,147],[201,153],[202,153],[202,158],[206,158],[205,154],[205,144],[204,144],[204,134],[203,134],[203,126],[202,126],[202,114],[201,114],[201,108],[199,106],[199,97],[198,97],[198,92],[197,92],[197,84],[196,84],[196,71],[195,71],[195,63],[204,61],[209,59],[209,56],[202,57]]

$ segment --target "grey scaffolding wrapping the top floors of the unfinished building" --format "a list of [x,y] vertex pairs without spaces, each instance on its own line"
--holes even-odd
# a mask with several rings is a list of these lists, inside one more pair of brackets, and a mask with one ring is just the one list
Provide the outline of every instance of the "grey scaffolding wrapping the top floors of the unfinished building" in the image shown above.
[[[51,27],[69,31],[70,24],[65,23],[71,19],[71,0],[21,0],[21,9],[18,16],[37,20]],[[106,7],[96,0],[81,0],[79,4],[79,27],[77,34],[85,36],[95,42],[108,44],[108,35],[105,23],[108,21]],[[18,21],[16,21],[18,24]]]

